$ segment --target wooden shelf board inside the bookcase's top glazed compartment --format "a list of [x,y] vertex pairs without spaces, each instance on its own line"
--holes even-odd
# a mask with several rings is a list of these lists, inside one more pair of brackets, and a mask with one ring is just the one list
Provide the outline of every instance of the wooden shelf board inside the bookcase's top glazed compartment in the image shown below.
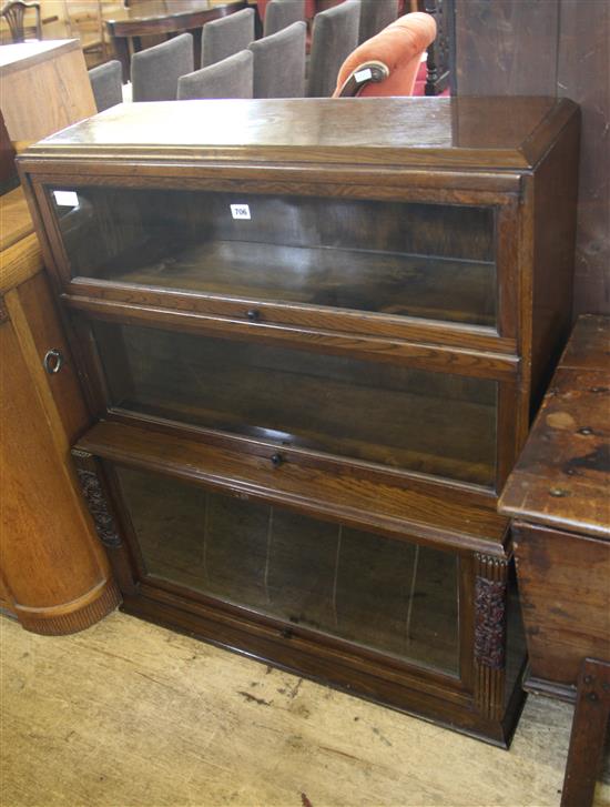
[[[135,263],[134,269],[124,269]],[[418,316],[492,326],[496,272],[488,261],[211,241],[149,242],[95,270],[118,283],[246,300]]]

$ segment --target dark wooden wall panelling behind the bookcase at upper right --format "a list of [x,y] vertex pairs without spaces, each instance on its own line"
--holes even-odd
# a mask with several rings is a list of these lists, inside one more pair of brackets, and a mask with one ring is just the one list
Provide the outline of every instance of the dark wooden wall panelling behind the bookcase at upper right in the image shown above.
[[575,314],[610,314],[610,0],[455,0],[459,95],[565,95],[582,139]]

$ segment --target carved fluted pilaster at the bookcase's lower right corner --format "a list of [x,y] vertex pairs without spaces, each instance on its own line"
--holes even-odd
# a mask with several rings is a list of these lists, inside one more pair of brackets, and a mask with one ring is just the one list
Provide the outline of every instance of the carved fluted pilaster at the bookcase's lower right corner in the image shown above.
[[508,559],[475,554],[476,702],[485,717],[504,713]]

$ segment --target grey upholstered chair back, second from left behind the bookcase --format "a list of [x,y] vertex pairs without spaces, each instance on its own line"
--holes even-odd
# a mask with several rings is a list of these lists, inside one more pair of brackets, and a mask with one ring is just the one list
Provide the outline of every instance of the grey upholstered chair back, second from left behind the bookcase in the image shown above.
[[192,73],[193,36],[180,37],[134,53],[131,58],[131,87],[134,101],[175,101],[177,80]]

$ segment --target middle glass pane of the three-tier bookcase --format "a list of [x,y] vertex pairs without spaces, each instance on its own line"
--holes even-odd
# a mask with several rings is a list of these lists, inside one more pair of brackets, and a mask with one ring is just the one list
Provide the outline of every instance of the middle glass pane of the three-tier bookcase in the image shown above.
[[102,320],[91,332],[111,411],[394,472],[496,483],[502,384],[492,377]]

